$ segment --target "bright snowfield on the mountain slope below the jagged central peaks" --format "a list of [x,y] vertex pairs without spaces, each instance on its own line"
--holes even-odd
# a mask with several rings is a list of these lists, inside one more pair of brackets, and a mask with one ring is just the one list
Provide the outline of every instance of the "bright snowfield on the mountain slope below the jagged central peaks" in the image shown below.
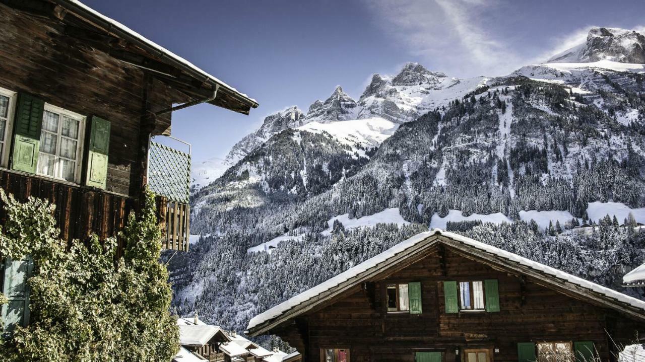
[[[341,120],[331,123],[310,122],[297,129],[312,133],[326,132],[337,138],[342,144],[355,148],[380,146],[388,137],[393,135],[398,125],[382,118]],[[355,149],[356,151],[356,149]]]

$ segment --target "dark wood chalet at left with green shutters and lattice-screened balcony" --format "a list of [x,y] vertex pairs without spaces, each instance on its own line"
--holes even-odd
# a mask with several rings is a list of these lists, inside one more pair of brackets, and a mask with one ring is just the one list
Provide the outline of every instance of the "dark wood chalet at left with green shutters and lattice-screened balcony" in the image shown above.
[[[148,185],[164,247],[186,250],[190,152],[151,137],[174,110],[257,102],[76,0],[0,0],[0,35],[0,189],[50,200],[61,238],[86,240],[117,236]],[[4,264],[3,318],[25,324],[30,267]]]

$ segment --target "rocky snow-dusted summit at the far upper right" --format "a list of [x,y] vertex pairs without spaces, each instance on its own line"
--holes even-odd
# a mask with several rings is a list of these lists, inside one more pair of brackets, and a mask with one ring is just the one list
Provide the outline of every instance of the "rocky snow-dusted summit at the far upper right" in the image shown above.
[[591,28],[585,43],[551,57],[548,62],[602,60],[645,64],[645,36],[634,30]]

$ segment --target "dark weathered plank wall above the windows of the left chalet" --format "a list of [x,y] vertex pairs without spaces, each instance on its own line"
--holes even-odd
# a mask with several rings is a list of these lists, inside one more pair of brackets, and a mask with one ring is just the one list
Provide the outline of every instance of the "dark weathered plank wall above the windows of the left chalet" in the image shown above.
[[[179,96],[160,81],[148,83],[139,68],[66,35],[67,23],[82,25],[73,14],[61,23],[0,4],[0,86],[32,93],[81,115],[109,120],[112,133],[106,189],[136,197],[141,178],[137,163],[141,116],[146,109],[172,106]],[[154,133],[169,130],[170,115],[157,119]]]

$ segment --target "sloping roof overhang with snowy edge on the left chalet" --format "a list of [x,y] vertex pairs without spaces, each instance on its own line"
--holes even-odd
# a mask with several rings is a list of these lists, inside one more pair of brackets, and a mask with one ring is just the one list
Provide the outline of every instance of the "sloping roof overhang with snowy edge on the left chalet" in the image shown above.
[[152,59],[154,61],[158,60],[183,71],[195,79],[197,83],[208,84],[209,86],[212,86],[213,89],[219,88],[219,90],[217,90],[217,97],[210,100],[210,104],[244,114],[248,114],[250,108],[257,108],[259,105],[255,99],[248,97],[248,95],[241,93],[232,86],[229,86],[225,82],[217,79],[217,77],[201,70],[183,57],[170,52],[170,50],[163,48],[163,46],[154,43],[150,39],[146,39],[143,35],[135,32],[118,21],[115,21],[114,19],[110,19],[110,17],[106,17],[78,0],[48,1],[52,1],[52,3],[62,6],[65,10],[85,19],[95,28],[99,28],[109,35],[114,35],[119,39],[123,39],[124,41],[134,44],[144,50],[144,52],[152,54]]

